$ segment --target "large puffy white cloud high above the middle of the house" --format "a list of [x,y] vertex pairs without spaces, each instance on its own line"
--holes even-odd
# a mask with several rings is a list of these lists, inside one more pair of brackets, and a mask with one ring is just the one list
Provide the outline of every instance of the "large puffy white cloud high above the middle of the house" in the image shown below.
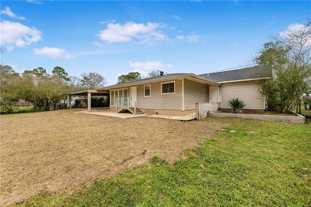
[[138,24],[132,21],[121,25],[120,23],[109,23],[107,29],[101,31],[98,36],[107,42],[130,42],[139,39],[139,43],[151,43],[152,40],[164,40],[167,36],[157,29],[163,28],[165,25],[159,23],[148,22],[145,24]]

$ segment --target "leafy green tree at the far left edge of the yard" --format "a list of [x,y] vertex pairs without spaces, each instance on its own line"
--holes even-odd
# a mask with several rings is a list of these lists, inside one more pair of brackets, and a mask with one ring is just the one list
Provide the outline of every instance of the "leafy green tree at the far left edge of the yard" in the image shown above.
[[20,99],[19,83],[21,77],[11,66],[0,65],[0,100],[6,110],[16,104]]

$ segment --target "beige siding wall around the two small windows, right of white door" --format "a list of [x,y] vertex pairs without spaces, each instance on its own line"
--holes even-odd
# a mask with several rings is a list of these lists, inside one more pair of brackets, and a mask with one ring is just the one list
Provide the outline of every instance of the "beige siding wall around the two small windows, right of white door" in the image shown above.
[[178,79],[173,81],[175,82],[175,93],[161,94],[161,83],[157,82],[151,84],[150,97],[144,97],[144,85],[137,86],[137,107],[141,109],[182,110],[182,81]]

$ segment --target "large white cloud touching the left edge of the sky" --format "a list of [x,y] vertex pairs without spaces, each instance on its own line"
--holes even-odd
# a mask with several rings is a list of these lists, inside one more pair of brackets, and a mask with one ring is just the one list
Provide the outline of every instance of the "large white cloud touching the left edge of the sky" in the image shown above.
[[42,39],[39,30],[34,27],[27,27],[18,22],[1,21],[0,27],[1,45],[25,47]]

